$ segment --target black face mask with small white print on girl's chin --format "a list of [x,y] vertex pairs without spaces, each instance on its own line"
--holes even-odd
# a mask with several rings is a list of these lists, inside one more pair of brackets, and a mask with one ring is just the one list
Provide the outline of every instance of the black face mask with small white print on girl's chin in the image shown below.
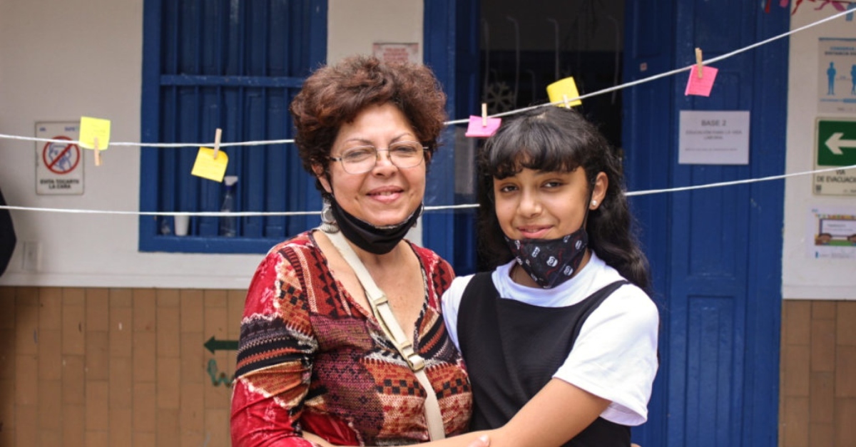
[[568,281],[586,254],[588,234],[584,227],[559,239],[508,239],[517,264],[544,289]]

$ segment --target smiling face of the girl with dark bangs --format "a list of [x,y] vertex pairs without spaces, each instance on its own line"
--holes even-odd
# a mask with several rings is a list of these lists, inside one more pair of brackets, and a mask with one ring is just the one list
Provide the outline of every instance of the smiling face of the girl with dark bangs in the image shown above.
[[586,171],[524,168],[493,179],[496,219],[509,239],[557,239],[580,229],[586,208],[597,209],[606,194],[607,176],[598,173],[589,200]]

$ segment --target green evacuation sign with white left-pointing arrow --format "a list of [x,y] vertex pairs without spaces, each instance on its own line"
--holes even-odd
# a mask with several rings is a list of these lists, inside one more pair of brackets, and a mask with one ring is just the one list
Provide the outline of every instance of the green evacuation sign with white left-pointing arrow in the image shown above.
[[[817,118],[815,169],[856,165],[856,120]],[[856,169],[818,172],[817,195],[856,196]]]

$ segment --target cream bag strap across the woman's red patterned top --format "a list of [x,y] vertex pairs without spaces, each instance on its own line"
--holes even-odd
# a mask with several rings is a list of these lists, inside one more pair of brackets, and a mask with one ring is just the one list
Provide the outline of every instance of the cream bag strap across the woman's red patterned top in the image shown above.
[[425,359],[416,354],[413,343],[410,341],[411,337],[407,337],[407,334],[401,330],[401,325],[398,324],[395,314],[392,313],[392,307],[389,307],[386,294],[377,287],[372,275],[366,270],[366,265],[363,265],[360,258],[357,257],[357,253],[354,253],[354,248],[348,244],[345,236],[339,231],[324,231],[324,234],[330,238],[330,241],[342,254],[342,258],[348,261],[348,264],[354,269],[357,279],[360,280],[363,290],[366,292],[366,298],[368,298],[369,305],[372,306],[372,313],[374,313],[377,322],[380,323],[383,332],[395,345],[395,349],[407,361],[407,365],[413,370],[419,384],[425,389],[425,419],[428,421],[428,436],[431,437],[432,441],[446,438],[446,432],[443,428],[443,415],[440,414],[440,403],[437,402],[437,393],[434,392],[434,387],[431,386],[431,381],[425,374]]

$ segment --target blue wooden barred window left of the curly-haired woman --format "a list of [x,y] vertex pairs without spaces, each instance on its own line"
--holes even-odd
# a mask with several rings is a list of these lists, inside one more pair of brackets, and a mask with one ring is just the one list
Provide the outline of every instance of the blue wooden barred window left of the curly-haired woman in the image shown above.
[[[141,140],[223,142],[293,138],[288,104],[326,57],[326,0],[146,0]],[[217,212],[225,187],[190,171],[198,148],[143,148],[140,210]],[[314,181],[292,144],[230,146],[226,174],[238,176],[235,212],[320,209]],[[172,218],[140,218],[140,251],[264,253],[310,228],[314,216],[237,218],[238,235],[218,235],[219,218],[193,217],[187,236]],[[163,231],[168,229],[168,231]]]

